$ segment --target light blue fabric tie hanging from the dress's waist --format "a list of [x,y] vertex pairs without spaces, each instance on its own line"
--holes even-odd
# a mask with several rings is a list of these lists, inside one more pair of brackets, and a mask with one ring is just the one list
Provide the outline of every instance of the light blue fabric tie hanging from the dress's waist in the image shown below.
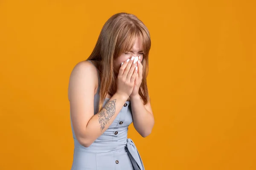
[[129,153],[131,154],[131,156],[136,161],[136,163],[138,164],[138,165],[135,165],[134,168],[136,166],[139,166],[140,170],[145,170],[143,162],[142,162],[140,154],[139,154],[139,151],[137,150],[137,147],[135,146],[134,142],[131,139],[127,139],[127,149],[129,151]]

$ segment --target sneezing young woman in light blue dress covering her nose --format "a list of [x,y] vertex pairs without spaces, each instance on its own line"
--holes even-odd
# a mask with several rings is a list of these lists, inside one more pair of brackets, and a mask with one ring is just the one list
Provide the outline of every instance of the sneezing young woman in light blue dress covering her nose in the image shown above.
[[144,170],[128,126],[146,137],[154,126],[146,77],[147,27],[133,14],[114,14],[86,61],[70,75],[74,139],[72,170]]

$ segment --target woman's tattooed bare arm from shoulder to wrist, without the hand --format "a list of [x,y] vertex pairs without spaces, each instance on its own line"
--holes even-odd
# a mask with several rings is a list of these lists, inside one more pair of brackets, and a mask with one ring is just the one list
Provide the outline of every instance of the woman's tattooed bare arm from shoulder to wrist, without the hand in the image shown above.
[[[89,147],[111,125],[128,96],[114,94],[102,111],[94,115],[96,68],[88,62],[79,62],[70,75],[69,100],[73,129],[77,140]],[[107,108],[107,109],[106,109]]]

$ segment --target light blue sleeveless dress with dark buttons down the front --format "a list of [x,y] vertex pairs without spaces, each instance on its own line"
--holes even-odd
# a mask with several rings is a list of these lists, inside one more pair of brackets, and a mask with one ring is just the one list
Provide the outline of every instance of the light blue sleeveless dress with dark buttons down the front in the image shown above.
[[[90,60],[87,61],[90,62]],[[99,87],[94,96],[94,114],[98,113],[99,71],[98,80]],[[108,98],[105,99],[103,106],[108,100]],[[79,144],[71,121],[74,139],[74,154],[71,170],[145,170],[134,142],[131,139],[127,139],[128,126],[132,121],[131,102],[126,101],[113,123],[89,147]]]

